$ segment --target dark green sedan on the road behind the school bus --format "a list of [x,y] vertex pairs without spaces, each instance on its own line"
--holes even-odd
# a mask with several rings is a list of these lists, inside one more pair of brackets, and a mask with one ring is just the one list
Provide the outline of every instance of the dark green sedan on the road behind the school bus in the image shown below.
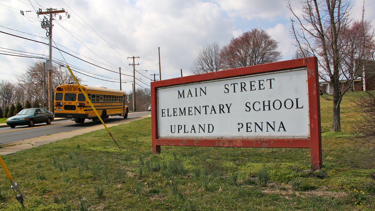
[[49,112],[43,108],[32,108],[21,110],[16,116],[12,116],[6,120],[6,124],[11,128],[15,128],[17,125],[28,125],[33,127],[34,124],[46,123],[51,124],[54,119],[52,112]]

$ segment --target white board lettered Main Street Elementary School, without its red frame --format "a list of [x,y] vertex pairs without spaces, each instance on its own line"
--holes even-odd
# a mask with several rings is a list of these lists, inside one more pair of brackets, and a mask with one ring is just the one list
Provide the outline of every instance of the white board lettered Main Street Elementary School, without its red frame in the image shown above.
[[310,137],[306,68],[157,88],[160,139]]

